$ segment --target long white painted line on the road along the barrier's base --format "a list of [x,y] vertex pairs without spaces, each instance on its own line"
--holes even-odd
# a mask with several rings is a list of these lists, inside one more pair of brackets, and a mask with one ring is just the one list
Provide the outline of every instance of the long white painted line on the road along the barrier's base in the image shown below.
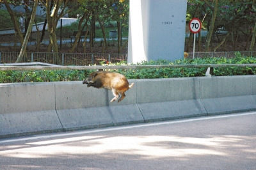
[[235,114],[225,114],[225,115],[218,115],[218,116],[205,116],[205,117],[199,117],[199,118],[188,118],[184,120],[172,120],[172,121],[163,121],[163,122],[155,122],[155,123],[145,123],[140,125],[127,125],[124,127],[111,127],[111,128],[100,128],[96,130],[83,130],[79,132],[67,132],[63,134],[47,134],[47,135],[36,135],[33,137],[22,137],[18,139],[5,139],[3,141],[0,140],[0,143],[12,143],[17,141],[29,141],[29,140],[35,140],[35,139],[47,139],[51,137],[65,137],[70,135],[83,135],[83,134],[93,134],[97,132],[109,132],[114,130],[125,130],[130,128],[140,128],[140,127],[152,127],[152,126],[159,126],[159,125],[170,125],[175,123],[186,123],[191,121],[201,121],[201,120],[213,120],[213,119],[221,119],[221,118],[231,118],[231,117],[237,117],[237,116],[248,116],[256,114],[256,112],[244,112],[244,113],[235,113]]

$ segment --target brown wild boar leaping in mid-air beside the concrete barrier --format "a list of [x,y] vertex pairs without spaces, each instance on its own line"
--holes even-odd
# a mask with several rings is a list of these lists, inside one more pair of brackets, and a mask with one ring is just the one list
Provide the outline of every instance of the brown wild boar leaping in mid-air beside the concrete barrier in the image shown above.
[[87,87],[93,86],[95,88],[111,89],[114,98],[110,102],[114,102],[118,99],[121,102],[125,98],[125,91],[132,88],[134,83],[129,85],[126,77],[120,73],[99,71],[91,73],[84,81],[83,84],[87,84]]

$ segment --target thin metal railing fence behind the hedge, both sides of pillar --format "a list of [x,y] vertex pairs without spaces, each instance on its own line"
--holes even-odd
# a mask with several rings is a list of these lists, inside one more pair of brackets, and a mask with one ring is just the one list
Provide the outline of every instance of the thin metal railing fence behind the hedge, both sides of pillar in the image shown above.
[[[195,52],[195,58],[225,57],[234,58],[237,55],[256,57],[256,51],[241,52]],[[19,52],[0,52],[0,63],[15,63]],[[93,53],[54,53],[26,52],[22,62],[42,62],[55,65],[99,65],[100,63],[119,63],[127,61],[127,54],[93,54]],[[193,53],[189,52],[189,58]]]

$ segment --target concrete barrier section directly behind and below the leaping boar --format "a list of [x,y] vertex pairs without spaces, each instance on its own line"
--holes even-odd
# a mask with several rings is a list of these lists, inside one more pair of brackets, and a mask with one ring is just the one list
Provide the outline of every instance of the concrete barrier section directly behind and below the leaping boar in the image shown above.
[[81,82],[57,82],[56,111],[64,130],[143,122],[136,105],[136,88],[126,95],[120,104],[109,103],[113,94],[107,89],[87,88]]

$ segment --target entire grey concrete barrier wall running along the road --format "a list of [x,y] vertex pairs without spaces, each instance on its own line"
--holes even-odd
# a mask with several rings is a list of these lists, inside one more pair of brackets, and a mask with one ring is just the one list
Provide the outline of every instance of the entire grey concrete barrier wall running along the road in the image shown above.
[[120,103],[82,82],[0,84],[0,137],[256,110],[256,75],[129,82]]

